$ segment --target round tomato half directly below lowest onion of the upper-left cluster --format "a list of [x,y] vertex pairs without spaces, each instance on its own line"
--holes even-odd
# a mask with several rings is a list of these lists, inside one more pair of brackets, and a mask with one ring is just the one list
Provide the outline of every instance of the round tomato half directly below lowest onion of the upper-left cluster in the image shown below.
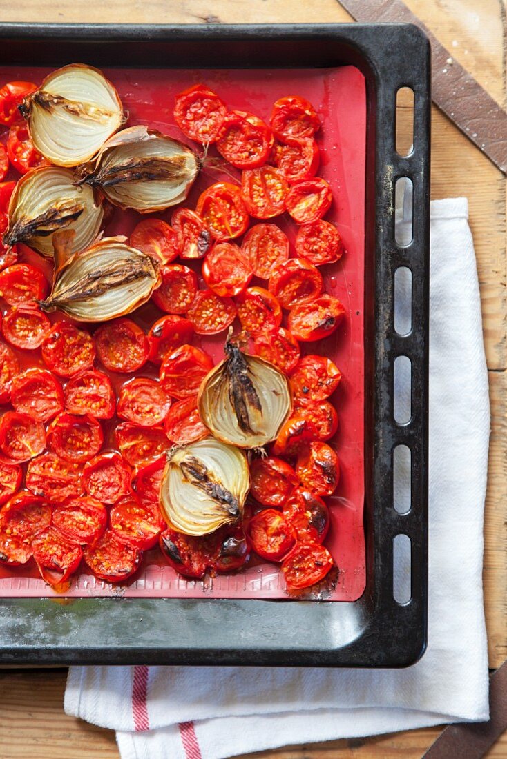
[[135,372],[146,364],[150,352],[147,336],[132,319],[115,319],[93,335],[97,355],[112,372]]

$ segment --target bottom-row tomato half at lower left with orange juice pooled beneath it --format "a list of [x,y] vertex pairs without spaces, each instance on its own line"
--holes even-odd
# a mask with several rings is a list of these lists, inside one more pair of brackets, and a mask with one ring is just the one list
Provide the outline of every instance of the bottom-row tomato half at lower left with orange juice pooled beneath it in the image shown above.
[[60,585],[74,574],[81,563],[81,546],[73,543],[54,527],[33,538],[33,558],[39,572],[50,585]]

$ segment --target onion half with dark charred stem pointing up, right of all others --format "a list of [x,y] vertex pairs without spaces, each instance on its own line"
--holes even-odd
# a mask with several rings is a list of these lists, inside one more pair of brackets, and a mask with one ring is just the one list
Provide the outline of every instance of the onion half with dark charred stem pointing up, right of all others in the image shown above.
[[290,415],[287,377],[258,356],[226,343],[227,358],[203,379],[198,410],[219,440],[240,448],[258,448],[277,438]]

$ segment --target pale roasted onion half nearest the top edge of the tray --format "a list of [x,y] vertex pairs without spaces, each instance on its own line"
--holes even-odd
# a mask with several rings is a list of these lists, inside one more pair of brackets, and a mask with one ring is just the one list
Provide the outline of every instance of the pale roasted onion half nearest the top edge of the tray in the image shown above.
[[36,149],[58,166],[89,160],[125,122],[118,93],[102,71],[79,63],[49,74],[20,110]]

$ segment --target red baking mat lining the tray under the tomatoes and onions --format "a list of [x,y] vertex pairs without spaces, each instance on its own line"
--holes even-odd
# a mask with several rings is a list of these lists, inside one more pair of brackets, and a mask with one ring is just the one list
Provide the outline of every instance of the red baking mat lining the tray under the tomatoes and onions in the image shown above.
[[[225,61],[224,61],[225,62]],[[0,82],[33,80],[40,82],[46,69],[0,68]],[[334,69],[280,69],[273,71],[105,71],[115,84],[130,119],[128,125],[144,123],[167,134],[183,137],[173,124],[173,98],[176,93],[204,81],[216,90],[232,109],[251,111],[268,120],[273,102],[287,95],[302,95],[313,103],[322,117],[322,130],[316,135],[321,149],[318,174],[331,183],[334,203],[326,216],[336,222],[346,254],[336,264],[321,267],[325,288],[337,295],[347,309],[338,332],[319,343],[302,345],[303,353],[330,357],[343,373],[341,385],[331,398],[337,408],[339,429],[331,445],[341,461],[341,481],[336,494],[327,499],[331,511],[331,530],[325,541],[338,571],[325,587],[310,591],[308,597],[326,600],[356,600],[365,587],[365,548],[363,531],[363,273],[364,273],[364,190],[366,144],[366,91],[363,75],[351,66]],[[183,139],[185,139],[183,137]],[[239,176],[239,175],[238,175]],[[202,187],[220,177],[208,169],[198,179],[186,204],[194,207]],[[158,217],[169,221],[172,209]],[[106,234],[128,235],[139,220],[135,213],[116,212]],[[290,238],[296,225],[289,218],[275,219]],[[292,249],[292,254],[294,250]],[[185,262],[188,263],[188,262]],[[265,285],[265,282],[252,282]],[[2,310],[5,310],[5,303]],[[138,320],[147,326],[161,313],[141,309]],[[135,317],[136,318],[136,317]],[[223,355],[223,335],[195,337],[216,362]],[[24,353],[25,365],[43,365],[40,350]],[[150,371],[142,371],[142,375]],[[129,375],[117,375],[116,385]],[[206,597],[206,598],[287,598],[279,565],[257,562],[235,575],[220,575],[204,581],[186,581],[166,565],[158,550],[148,551],[140,572],[125,585],[111,585],[90,575],[84,563],[65,595],[74,597]],[[0,567],[0,597],[54,596],[52,588],[37,576],[32,562],[27,568],[11,571]]]

